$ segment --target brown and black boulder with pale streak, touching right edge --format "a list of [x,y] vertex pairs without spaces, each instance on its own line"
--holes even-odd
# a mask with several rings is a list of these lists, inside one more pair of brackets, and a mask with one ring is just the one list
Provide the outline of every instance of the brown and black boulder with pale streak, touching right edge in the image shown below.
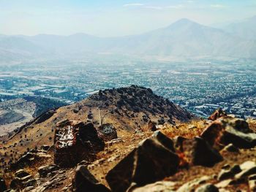
[[200,137],[214,147],[230,143],[238,148],[256,146],[256,134],[249,128],[245,120],[238,118],[219,118],[211,123]]

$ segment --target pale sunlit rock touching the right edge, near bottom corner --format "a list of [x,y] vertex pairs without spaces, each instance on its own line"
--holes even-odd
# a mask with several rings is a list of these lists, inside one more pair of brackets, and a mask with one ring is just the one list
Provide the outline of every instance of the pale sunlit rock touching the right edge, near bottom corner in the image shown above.
[[242,171],[235,176],[237,180],[241,180],[251,174],[256,174],[256,163],[254,161],[246,161],[240,165],[240,168]]

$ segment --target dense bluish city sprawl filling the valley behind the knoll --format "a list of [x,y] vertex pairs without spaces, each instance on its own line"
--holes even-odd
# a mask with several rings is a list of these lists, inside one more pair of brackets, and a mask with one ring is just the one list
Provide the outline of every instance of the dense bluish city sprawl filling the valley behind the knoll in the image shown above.
[[105,88],[141,85],[206,117],[222,107],[256,117],[255,61],[95,61],[1,66],[0,100],[44,97],[71,104]]

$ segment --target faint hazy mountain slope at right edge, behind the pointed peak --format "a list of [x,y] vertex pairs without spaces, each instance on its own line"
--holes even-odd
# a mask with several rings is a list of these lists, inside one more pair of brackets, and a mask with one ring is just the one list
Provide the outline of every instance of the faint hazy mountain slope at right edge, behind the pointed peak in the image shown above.
[[247,18],[237,23],[231,23],[222,27],[230,34],[244,38],[256,40],[256,16]]

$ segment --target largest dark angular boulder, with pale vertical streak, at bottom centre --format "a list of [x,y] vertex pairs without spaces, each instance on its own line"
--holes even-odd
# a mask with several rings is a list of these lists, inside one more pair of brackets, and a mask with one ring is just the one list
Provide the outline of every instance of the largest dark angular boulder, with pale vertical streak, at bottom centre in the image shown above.
[[178,163],[173,141],[157,131],[111,169],[106,180],[112,191],[126,191],[131,183],[142,186],[176,173]]

